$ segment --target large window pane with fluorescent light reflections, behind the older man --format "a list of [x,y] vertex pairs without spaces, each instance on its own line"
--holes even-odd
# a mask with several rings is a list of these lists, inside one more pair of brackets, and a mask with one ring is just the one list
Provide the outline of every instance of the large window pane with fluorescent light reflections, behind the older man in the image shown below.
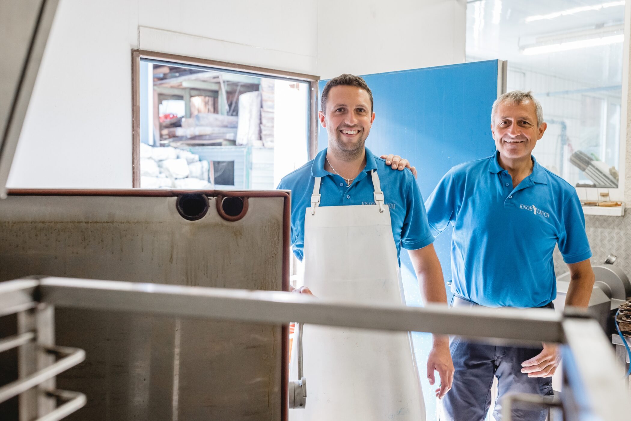
[[533,155],[572,186],[618,187],[625,1],[467,5],[467,61],[508,61],[507,91],[532,91],[548,129]]

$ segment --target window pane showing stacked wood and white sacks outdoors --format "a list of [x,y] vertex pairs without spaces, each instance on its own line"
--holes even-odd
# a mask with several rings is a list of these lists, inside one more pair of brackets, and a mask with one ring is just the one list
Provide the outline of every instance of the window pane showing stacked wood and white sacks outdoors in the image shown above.
[[307,162],[307,82],[141,59],[140,187],[274,189]]

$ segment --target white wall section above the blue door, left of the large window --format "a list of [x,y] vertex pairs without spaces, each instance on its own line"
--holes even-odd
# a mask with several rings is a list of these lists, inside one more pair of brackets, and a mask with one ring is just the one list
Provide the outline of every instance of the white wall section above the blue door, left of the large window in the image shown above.
[[371,74],[464,62],[465,0],[321,0],[318,74]]

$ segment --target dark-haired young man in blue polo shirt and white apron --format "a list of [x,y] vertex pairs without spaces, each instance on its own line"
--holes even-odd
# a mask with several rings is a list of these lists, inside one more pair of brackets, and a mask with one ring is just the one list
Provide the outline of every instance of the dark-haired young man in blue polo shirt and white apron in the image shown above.
[[[423,199],[410,170],[389,169],[364,143],[375,119],[372,92],[351,74],[322,90],[319,119],[327,149],[286,175],[292,191],[293,252],[305,263],[305,287],[317,297],[405,304],[399,252],[407,249],[427,302],[447,303]],[[425,419],[407,333],[305,326],[304,370],[309,404],[300,420]],[[442,398],[451,386],[449,340],[435,336],[427,362]]]

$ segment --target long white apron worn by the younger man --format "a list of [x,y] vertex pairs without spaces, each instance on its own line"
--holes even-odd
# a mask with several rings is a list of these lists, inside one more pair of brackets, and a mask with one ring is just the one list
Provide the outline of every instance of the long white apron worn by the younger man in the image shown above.
[[[377,172],[371,174],[375,205],[318,207],[315,178],[305,216],[304,285],[323,299],[404,305],[390,211]],[[305,324],[303,355],[307,401],[290,410],[290,421],[425,420],[409,333]]]

